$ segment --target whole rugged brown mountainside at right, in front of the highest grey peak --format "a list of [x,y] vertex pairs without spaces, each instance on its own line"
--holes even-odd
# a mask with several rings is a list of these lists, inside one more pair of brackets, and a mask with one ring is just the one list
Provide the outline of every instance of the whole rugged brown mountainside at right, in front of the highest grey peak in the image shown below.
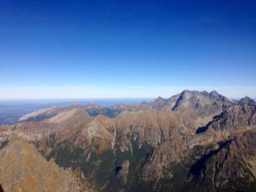
[[255,107],[241,102],[206,132],[155,147],[132,191],[255,191]]

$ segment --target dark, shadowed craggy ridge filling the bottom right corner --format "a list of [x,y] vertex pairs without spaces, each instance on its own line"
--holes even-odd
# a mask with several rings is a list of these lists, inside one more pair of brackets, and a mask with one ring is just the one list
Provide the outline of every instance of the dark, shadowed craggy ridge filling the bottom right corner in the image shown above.
[[190,169],[195,191],[255,191],[255,130],[233,134]]

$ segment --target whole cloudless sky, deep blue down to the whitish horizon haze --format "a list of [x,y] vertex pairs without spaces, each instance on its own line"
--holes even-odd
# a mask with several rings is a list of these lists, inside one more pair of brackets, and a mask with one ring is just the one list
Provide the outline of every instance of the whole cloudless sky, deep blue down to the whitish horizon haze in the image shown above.
[[256,1],[0,1],[0,99],[256,97]]

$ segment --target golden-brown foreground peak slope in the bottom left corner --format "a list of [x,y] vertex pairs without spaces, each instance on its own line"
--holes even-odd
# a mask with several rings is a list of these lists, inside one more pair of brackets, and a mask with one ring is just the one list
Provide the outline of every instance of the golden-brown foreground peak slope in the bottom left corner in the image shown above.
[[22,140],[12,141],[0,150],[0,163],[4,191],[92,191]]

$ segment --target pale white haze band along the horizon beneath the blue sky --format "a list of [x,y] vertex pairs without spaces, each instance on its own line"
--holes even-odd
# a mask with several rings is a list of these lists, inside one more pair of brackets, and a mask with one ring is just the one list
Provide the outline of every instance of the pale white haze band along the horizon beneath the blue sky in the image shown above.
[[118,87],[118,86],[0,86],[0,99],[127,99],[127,98],[157,98],[181,93],[184,90],[217,91],[228,98],[256,97],[256,86],[231,87]]

